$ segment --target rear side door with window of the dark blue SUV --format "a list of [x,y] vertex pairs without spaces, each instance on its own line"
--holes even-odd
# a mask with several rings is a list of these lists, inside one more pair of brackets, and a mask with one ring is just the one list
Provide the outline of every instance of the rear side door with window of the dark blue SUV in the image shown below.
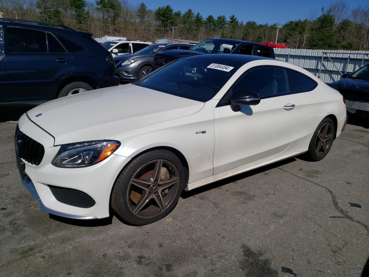
[[51,100],[73,57],[51,33],[7,26],[6,79],[13,102]]

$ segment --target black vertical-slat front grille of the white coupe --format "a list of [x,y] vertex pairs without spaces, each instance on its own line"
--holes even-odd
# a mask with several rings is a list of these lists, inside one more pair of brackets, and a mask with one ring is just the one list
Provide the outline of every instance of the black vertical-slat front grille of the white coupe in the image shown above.
[[41,143],[28,137],[17,128],[15,129],[15,151],[18,157],[27,161],[30,164],[39,165],[44,158],[45,149]]

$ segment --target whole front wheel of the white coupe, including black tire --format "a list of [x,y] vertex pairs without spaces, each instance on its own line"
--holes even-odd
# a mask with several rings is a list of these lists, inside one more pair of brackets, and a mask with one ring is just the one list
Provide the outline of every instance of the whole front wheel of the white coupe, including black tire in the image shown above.
[[172,211],[185,185],[183,165],[175,154],[150,151],[132,160],[118,176],[111,206],[125,222],[150,224]]

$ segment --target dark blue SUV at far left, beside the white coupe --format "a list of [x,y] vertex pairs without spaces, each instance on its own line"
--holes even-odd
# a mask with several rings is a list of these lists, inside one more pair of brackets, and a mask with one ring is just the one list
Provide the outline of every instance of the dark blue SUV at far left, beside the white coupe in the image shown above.
[[0,19],[0,105],[38,105],[115,85],[113,58],[92,34]]

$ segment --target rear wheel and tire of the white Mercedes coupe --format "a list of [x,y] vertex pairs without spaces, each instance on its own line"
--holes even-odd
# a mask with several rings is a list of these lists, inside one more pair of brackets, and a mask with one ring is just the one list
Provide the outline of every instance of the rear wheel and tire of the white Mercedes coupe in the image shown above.
[[[307,152],[304,153],[305,158],[308,161],[322,160],[331,150],[335,133],[336,130],[332,119],[325,117],[325,119],[319,123],[313,137],[311,137],[309,148]],[[324,141],[322,140],[323,138]]]

